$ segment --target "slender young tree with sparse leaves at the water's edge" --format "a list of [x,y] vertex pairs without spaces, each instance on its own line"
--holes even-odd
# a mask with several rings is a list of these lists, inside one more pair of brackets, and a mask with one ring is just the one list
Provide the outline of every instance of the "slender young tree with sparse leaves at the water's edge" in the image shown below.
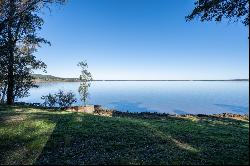
[[91,73],[87,70],[88,64],[86,61],[79,62],[78,66],[81,67],[80,80],[82,81],[78,88],[78,92],[81,97],[80,99],[84,102],[84,105],[86,106],[86,101],[89,96],[88,88],[90,87],[93,78]]

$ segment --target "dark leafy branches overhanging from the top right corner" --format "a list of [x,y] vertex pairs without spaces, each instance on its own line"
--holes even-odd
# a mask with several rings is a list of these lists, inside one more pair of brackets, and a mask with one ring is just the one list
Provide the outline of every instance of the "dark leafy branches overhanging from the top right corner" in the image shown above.
[[215,20],[220,22],[223,18],[229,21],[241,21],[249,26],[249,0],[198,0],[192,13],[186,20],[200,17],[201,21]]

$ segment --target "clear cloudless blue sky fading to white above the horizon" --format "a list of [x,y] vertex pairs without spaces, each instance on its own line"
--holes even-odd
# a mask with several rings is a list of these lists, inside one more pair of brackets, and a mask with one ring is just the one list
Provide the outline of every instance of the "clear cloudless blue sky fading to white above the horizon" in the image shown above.
[[[186,22],[193,0],[69,0],[46,11],[36,56],[47,74],[94,79],[249,78],[248,27]],[[40,73],[40,72],[37,72]]]

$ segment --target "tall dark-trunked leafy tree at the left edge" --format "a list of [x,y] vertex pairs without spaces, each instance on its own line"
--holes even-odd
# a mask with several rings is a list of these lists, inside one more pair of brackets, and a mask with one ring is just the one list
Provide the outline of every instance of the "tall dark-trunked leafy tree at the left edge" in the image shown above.
[[[49,44],[37,35],[43,25],[38,13],[54,2],[64,3],[65,0],[0,0],[0,72],[3,74],[1,82],[7,87],[9,105],[13,104],[16,94],[26,95],[33,86],[31,71],[45,67],[32,54],[42,43]],[[22,71],[23,78],[16,75],[17,71]],[[22,89],[25,90],[19,92]]]

